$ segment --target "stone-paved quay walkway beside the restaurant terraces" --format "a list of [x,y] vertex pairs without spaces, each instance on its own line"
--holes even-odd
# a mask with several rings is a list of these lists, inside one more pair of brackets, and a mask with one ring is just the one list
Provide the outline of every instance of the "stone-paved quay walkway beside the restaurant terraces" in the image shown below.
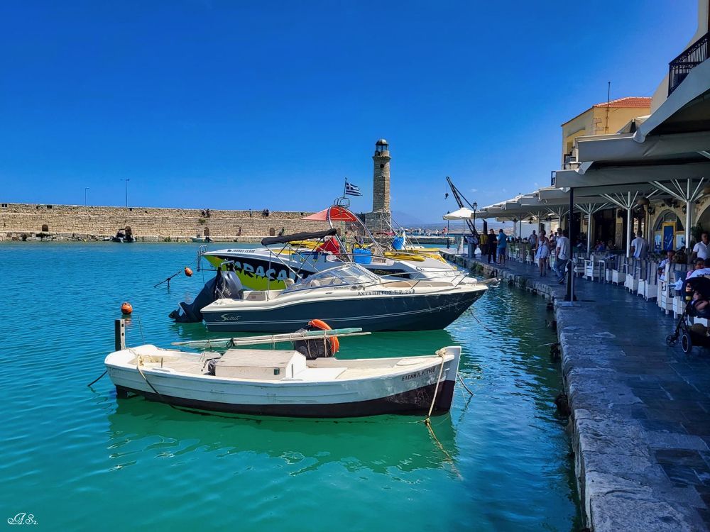
[[552,272],[442,254],[555,301],[586,526],[710,530],[710,351],[668,348],[672,316],[623,287],[578,277],[570,306]]

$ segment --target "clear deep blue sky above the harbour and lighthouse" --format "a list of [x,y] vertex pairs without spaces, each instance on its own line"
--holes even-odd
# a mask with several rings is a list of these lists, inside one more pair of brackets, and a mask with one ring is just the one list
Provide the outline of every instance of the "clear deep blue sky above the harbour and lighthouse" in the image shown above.
[[322,209],[437,221],[544,186],[560,124],[651,96],[697,0],[4,1],[0,200]]

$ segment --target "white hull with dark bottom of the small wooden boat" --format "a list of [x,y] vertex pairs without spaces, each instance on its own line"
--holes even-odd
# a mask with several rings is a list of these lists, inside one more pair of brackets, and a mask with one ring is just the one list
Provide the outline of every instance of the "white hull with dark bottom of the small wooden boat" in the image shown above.
[[[141,346],[147,347],[152,348]],[[305,376],[266,381],[195,375],[159,366],[141,367],[139,372],[131,362],[141,348],[107,356],[109,377],[119,395],[134,392],[178,406],[240,414],[349,417],[426,413],[434,400],[442,365],[438,356],[409,357],[399,359],[403,362],[398,362],[387,375],[376,377],[318,380]],[[442,414],[451,406],[461,348],[449,347],[446,352],[436,391],[435,414]],[[327,368],[332,372],[342,365],[366,365],[370,360],[387,359],[317,359],[316,369],[329,373]],[[315,373],[318,375],[318,371]]]

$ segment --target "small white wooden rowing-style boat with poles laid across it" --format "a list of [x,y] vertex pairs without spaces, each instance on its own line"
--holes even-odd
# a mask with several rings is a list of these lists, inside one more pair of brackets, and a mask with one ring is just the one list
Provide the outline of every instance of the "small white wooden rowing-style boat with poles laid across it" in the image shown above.
[[[293,333],[229,343],[272,343],[288,336]],[[313,336],[324,342],[349,335],[319,331]],[[442,414],[451,407],[460,356],[458,346],[428,356],[310,360],[296,350],[230,348],[220,355],[139,345],[109,354],[105,364],[118,397],[133,392],[194,409],[331,418],[430,409]]]

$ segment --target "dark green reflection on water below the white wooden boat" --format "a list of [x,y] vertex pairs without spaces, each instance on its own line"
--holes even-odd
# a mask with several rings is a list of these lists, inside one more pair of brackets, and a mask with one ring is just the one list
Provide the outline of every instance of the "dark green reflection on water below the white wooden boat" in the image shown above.
[[[138,465],[154,458],[185,462],[204,455],[213,455],[210,462],[239,458],[244,465],[244,460],[263,463],[258,457],[266,455],[290,465],[290,475],[333,463],[348,470],[366,468],[391,475],[392,468],[400,472],[456,470],[458,458],[456,430],[449,414],[432,419],[440,446],[424,423],[402,416],[337,421],[200,416],[136,397],[118,401],[108,419],[111,459]],[[294,467],[296,463],[302,467]]]

